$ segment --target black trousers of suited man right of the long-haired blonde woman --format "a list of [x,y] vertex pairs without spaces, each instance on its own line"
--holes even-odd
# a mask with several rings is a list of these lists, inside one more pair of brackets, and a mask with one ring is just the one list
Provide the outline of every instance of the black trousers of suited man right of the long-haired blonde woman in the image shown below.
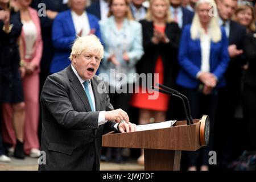
[[241,98],[241,81],[227,80],[225,88],[219,89],[218,106],[216,114],[216,131],[214,137],[214,150],[217,151],[218,164],[226,168],[234,160],[235,146],[238,144],[234,138],[237,134],[234,114]]

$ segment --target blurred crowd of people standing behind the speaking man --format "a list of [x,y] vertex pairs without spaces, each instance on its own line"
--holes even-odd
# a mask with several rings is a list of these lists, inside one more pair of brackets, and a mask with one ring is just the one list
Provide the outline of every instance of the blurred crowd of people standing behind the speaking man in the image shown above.
[[[247,169],[235,159],[256,158],[256,3],[88,1],[0,0],[0,162],[11,162],[12,155],[40,156],[44,81],[71,64],[77,36],[94,34],[104,46],[97,75],[104,78],[113,107],[138,121],[133,122],[185,118],[179,100],[163,93],[149,100],[150,85],[130,77],[136,73],[153,75],[146,80],[151,86],[158,82],[185,94],[193,118],[209,115],[209,145],[183,152],[182,169],[209,170],[212,150],[218,155],[217,168]],[[121,92],[128,88],[133,92]],[[241,144],[235,140],[240,132]],[[125,151],[104,148],[101,159],[123,163]],[[139,164],[144,164],[143,153]]]

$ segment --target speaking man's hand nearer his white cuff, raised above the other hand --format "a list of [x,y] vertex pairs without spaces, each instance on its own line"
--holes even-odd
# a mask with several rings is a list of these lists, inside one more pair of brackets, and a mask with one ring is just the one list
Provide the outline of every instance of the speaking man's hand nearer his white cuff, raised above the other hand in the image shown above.
[[130,120],[128,114],[122,109],[106,111],[105,119],[107,119],[108,121],[115,121],[117,123],[121,122],[122,120],[125,120],[126,123],[129,123]]

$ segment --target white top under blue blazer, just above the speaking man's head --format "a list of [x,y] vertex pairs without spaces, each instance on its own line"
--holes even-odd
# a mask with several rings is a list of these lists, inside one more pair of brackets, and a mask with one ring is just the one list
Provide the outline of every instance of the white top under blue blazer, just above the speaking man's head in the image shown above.
[[81,36],[88,35],[90,32],[90,24],[86,12],[84,11],[84,13],[81,15],[77,15],[74,11],[71,11],[71,16],[75,26],[76,34],[79,34],[79,32],[82,30]]

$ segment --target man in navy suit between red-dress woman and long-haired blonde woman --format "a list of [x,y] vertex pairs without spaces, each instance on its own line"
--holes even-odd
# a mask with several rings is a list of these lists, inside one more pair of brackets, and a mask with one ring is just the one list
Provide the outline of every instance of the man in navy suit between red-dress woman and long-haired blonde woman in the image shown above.
[[170,11],[172,18],[179,24],[182,29],[186,24],[191,24],[194,13],[181,6],[182,0],[170,0]]

